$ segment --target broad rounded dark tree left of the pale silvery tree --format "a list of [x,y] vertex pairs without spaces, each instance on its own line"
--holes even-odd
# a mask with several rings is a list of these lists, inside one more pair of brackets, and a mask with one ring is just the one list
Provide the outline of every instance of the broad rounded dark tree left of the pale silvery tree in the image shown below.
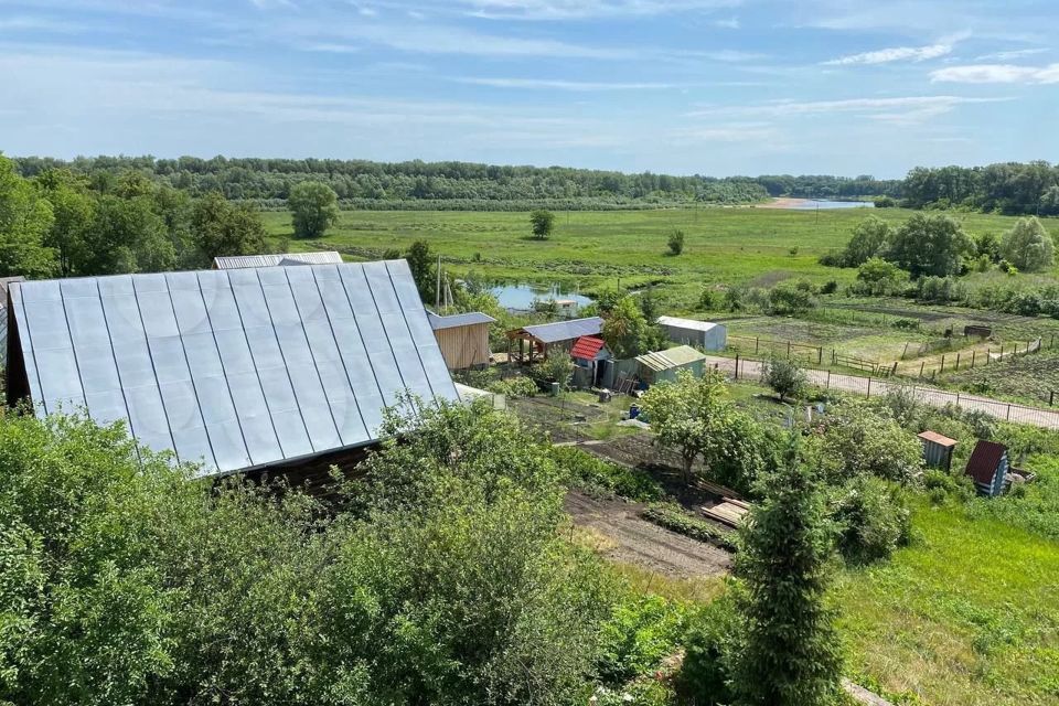
[[890,237],[884,257],[912,277],[959,275],[963,258],[974,253],[963,227],[946,215],[914,214]]

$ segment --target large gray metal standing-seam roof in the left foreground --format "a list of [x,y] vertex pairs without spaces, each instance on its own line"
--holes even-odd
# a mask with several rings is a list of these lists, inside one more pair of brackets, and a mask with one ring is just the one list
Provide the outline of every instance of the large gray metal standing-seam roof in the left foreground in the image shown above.
[[39,415],[124,420],[207,473],[371,443],[406,388],[457,399],[405,260],[33,281],[11,300]]

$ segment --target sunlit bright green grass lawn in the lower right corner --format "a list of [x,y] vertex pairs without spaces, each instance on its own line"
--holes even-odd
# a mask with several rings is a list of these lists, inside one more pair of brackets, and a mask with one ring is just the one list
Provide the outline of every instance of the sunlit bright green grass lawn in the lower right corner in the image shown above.
[[914,526],[839,582],[852,675],[905,703],[1059,703],[1059,543],[959,509],[920,506]]

